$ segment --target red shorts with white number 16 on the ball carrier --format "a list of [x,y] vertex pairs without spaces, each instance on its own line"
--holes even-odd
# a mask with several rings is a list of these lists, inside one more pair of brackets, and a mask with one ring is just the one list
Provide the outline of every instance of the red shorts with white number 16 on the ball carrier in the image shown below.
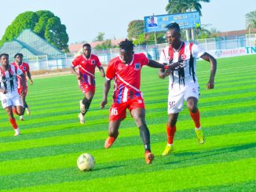
[[144,109],[144,100],[142,97],[137,97],[132,100],[128,100],[126,103],[113,103],[110,108],[109,121],[115,121],[118,119],[126,118],[126,109],[130,111],[136,108]]

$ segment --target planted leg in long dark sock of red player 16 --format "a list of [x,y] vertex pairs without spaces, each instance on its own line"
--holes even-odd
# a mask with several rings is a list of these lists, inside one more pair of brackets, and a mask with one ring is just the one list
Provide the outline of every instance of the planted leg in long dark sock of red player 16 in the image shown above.
[[151,152],[150,146],[150,132],[145,121],[145,110],[144,107],[137,107],[130,110],[130,114],[133,116],[133,119],[140,130],[140,136],[144,144],[144,157],[147,164],[151,164],[154,160],[154,154]]

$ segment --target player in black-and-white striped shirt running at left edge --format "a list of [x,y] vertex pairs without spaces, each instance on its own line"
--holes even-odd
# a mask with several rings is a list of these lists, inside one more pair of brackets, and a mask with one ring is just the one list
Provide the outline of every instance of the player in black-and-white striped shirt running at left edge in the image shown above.
[[[24,108],[20,100],[20,96],[17,90],[16,78],[19,75],[22,79],[22,87],[25,87],[25,77],[20,68],[9,64],[9,55],[2,53],[0,55],[0,99],[2,101],[2,107],[5,109],[9,116],[9,121],[13,125],[15,130],[14,136],[20,135],[20,129],[16,125],[16,120],[13,117],[13,108],[16,114],[23,115]],[[21,96],[24,95],[24,89],[20,92]]]

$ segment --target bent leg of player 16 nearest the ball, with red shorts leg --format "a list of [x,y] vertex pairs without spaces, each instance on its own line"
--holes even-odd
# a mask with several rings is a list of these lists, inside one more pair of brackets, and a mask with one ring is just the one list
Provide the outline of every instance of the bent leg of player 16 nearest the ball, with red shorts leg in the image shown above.
[[126,103],[113,103],[110,108],[109,125],[108,125],[108,139],[105,141],[104,147],[108,149],[115,142],[119,136],[119,126],[121,121],[126,118]]

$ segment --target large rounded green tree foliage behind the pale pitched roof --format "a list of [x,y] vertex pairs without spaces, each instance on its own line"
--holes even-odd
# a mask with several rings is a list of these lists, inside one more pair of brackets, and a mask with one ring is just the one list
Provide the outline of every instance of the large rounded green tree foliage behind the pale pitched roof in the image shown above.
[[51,45],[68,51],[66,26],[61,24],[59,17],[45,10],[37,12],[27,11],[16,16],[12,24],[6,28],[0,45],[4,42],[12,41],[13,38],[17,38],[24,29],[31,29],[31,31],[46,39]]

